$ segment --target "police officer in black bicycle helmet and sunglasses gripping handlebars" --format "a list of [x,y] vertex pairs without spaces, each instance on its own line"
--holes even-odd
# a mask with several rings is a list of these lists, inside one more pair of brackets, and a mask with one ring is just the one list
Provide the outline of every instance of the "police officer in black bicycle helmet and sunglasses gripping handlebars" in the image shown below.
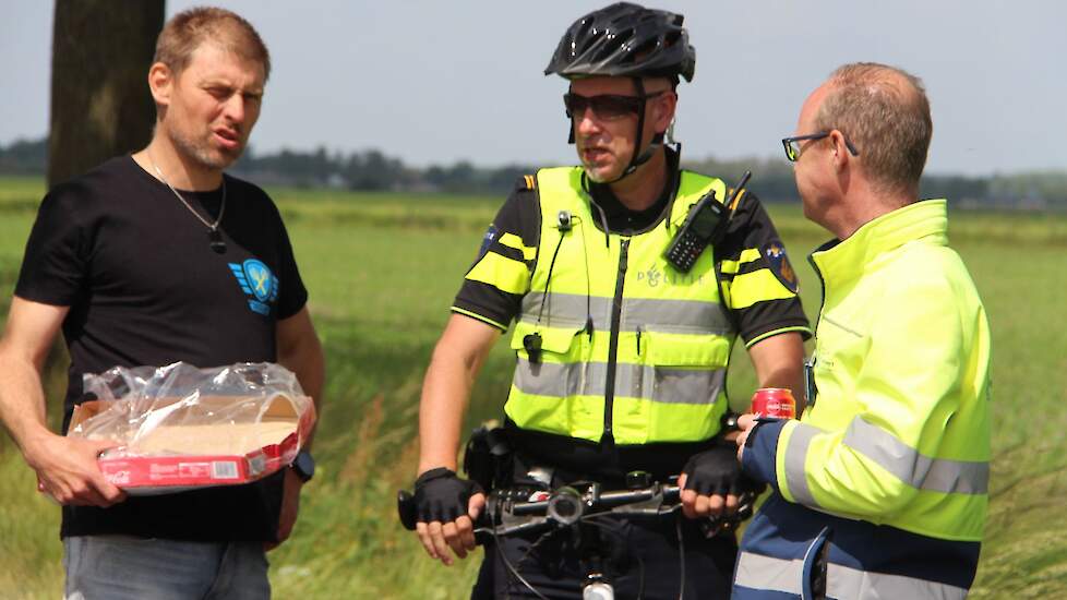
[[[721,418],[727,363],[740,338],[763,386],[801,386],[807,321],[766,213],[744,199],[726,236],[688,271],[664,250],[716,178],[682,170],[664,145],[680,77],[695,51],[682,15],[618,3],[564,34],[546,74],[568,80],[564,107],[580,167],[519,180],[487,231],[433,352],[420,408],[418,535],[445,564],[473,549],[484,496],[457,477],[471,384],[514,325],[505,405],[511,481],[595,480],[622,488],[642,470],[680,484],[690,517],[732,513],[744,489]],[[680,519],[680,520],[679,520]],[[726,598],[732,535],[705,539],[679,517],[603,520],[582,532],[504,538],[487,550],[476,597],[580,597],[587,542],[599,538],[619,596]],[[604,550],[607,548],[607,550]],[[514,571],[513,571],[514,569]],[[526,581],[520,583],[518,573]],[[527,587],[529,584],[529,587]]]

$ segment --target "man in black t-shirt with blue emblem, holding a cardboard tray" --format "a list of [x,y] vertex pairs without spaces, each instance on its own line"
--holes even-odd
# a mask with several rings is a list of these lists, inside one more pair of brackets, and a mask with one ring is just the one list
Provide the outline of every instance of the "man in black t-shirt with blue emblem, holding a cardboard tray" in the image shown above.
[[290,533],[313,463],[247,485],[127,496],[96,463],[108,443],[48,431],[40,385],[60,328],[71,356],[63,429],[82,375],[111,367],[277,362],[317,404],[323,356],[280,215],[224,175],[269,73],[252,26],[193,9],[160,33],[143,151],[52,189],[40,205],[0,340],[0,418],[63,505],[71,598],[265,598],[264,551]]

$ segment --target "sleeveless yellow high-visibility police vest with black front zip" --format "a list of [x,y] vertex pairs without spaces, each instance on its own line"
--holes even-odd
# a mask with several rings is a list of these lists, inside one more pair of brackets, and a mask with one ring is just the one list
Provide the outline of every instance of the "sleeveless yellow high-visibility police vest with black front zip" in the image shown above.
[[[727,189],[687,171],[680,178],[666,224],[606,236],[580,168],[537,173],[537,266],[512,337],[517,365],[504,407],[518,427],[594,442],[610,434],[619,444],[695,442],[718,433],[735,332],[716,259],[709,248],[692,271],[680,273],[663,252],[691,205],[712,190],[722,202]],[[561,211],[571,215],[570,229],[559,227]],[[524,340],[534,334],[540,352],[531,360]]]

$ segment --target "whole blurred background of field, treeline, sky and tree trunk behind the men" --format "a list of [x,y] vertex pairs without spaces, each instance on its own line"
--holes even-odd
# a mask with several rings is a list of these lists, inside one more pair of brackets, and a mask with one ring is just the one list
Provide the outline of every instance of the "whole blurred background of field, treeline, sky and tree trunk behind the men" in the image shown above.
[[[49,182],[139,149],[163,20],[193,2],[13,1],[0,8],[0,310],[7,314]],[[445,568],[395,519],[418,455],[421,377],[481,235],[516,177],[573,164],[544,77],[595,2],[223,1],[268,45],[251,149],[232,169],[281,208],[327,352],[320,473],[293,538],[269,555],[277,598],[464,598],[477,561]],[[683,160],[752,189],[775,218],[813,320],[803,256],[828,238],[801,215],[780,139],[836,67],[870,60],[925,81],[934,118],[923,194],[947,196],[950,239],[994,333],[991,518],[973,598],[1067,596],[1067,5],[1057,2],[661,2],[686,16],[697,73],[679,88]],[[58,428],[65,357],[46,372]],[[468,422],[499,417],[500,344]],[[739,355],[743,353],[739,351]],[[731,401],[754,377],[743,356]],[[2,376],[2,373],[0,373]],[[0,597],[55,598],[59,509],[0,437]]]

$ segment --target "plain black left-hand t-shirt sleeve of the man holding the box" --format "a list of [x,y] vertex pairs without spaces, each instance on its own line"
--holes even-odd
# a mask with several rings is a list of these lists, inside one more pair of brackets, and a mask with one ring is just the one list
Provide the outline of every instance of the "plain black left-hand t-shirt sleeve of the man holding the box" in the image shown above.
[[80,183],[57,187],[37,209],[15,296],[34,302],[70,307],[83,293],[92,251],[91,231],[80,214]]

